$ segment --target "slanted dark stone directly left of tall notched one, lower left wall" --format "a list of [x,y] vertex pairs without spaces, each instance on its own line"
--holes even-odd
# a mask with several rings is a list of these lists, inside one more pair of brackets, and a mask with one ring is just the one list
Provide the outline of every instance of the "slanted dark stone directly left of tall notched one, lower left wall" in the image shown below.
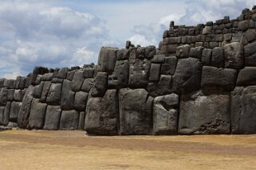
[[46,98],[46,102],[49,105],[61,105],[61,83],[52,83],[49,87],[49,92]]

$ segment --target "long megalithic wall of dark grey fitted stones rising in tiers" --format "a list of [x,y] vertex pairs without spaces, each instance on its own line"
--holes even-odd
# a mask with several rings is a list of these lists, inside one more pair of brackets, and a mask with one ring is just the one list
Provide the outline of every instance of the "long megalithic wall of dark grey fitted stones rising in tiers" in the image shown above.
[[256,133],[256,6],[176,26],[160,46],[103,47],[98,64],[0,79],[0,125],[93,135]]

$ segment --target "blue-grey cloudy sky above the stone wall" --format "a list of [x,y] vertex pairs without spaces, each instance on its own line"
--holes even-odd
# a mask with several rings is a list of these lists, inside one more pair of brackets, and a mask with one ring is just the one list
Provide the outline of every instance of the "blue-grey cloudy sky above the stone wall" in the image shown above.
[[197,25],[255,0],[0,0],[0,78],[96,63],[101,46],[158,45],[169,22]]

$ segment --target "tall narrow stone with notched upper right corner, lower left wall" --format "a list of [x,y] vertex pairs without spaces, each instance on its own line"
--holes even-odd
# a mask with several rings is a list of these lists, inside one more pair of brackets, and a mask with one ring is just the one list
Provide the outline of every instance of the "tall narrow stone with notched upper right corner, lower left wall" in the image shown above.
[[73,110],[75,92],[72,90],[72,82],[65,79],[62,84],[61,110]]

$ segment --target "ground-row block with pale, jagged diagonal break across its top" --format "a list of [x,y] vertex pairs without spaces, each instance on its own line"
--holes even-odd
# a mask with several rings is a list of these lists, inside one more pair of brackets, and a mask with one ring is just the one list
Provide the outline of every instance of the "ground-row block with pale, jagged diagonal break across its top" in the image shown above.
[[179,96],[159,96],[153,105],[153,133],[176,134],[178,127]]

